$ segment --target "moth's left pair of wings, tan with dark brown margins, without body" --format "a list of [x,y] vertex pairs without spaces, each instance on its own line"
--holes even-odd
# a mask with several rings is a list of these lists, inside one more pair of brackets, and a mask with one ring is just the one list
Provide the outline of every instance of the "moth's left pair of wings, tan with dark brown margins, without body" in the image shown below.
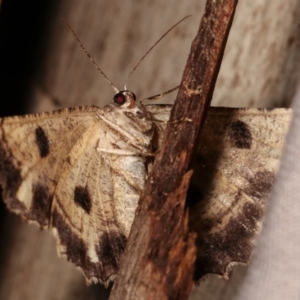
[[110,170],[96,152],[103,130],[99,110],[1,119],[0,184],[11,211],[52,228],[59,253],[88,281],[107,283],[126,238],[113,217]]

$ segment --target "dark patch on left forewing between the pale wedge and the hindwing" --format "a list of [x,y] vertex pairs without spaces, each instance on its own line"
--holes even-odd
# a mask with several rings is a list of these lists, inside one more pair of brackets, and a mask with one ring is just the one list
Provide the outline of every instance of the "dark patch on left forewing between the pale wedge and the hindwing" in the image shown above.
[[50,219],[52,195],[48,187],[36,184],[32,187],[33,197],[29,211],[29,220],[36,220],[42,227],[47,226]]

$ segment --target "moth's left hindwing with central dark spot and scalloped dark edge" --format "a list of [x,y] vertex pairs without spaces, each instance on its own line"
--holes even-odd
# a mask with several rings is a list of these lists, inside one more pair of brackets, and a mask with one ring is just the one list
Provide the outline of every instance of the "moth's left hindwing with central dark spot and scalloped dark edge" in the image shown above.
[[[71,149],[54,193],[52,227],[59,252],[89,282],[107,284],[117,274],[127,239],[114,218],[111,168],[96,151],[101,131],[90,127]],[[105,147],[105,141],[100,144]]]

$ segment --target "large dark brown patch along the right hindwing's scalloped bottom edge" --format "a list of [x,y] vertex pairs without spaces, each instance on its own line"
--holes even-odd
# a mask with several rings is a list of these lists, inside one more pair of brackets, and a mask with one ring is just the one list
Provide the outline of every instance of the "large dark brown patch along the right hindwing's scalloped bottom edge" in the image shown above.
[[259,204],[247,202],[224,228],[197,238],[195,279],[198,280],[208,273],[228,275],[227,267],[230,263],[247,263],[262,214]]

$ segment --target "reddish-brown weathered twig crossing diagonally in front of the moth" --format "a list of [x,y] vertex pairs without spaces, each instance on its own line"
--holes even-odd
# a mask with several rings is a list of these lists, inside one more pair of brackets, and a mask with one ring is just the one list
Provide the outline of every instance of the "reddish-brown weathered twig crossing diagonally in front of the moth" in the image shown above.
[[208,0],[140,201],[110,299],[187,299],[195,235],[188,232],[189,166],[210,105],[237,0]]

